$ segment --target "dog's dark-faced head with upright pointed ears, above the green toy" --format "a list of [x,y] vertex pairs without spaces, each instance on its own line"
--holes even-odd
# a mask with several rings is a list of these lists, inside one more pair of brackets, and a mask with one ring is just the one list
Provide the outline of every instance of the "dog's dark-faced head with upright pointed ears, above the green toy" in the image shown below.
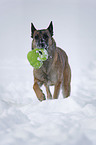
[[37,30],[33,23],[31,23],[31,38],[32,49],[44,48],[48,49],[52,45],[53,24],[52,21],[47,29]]

